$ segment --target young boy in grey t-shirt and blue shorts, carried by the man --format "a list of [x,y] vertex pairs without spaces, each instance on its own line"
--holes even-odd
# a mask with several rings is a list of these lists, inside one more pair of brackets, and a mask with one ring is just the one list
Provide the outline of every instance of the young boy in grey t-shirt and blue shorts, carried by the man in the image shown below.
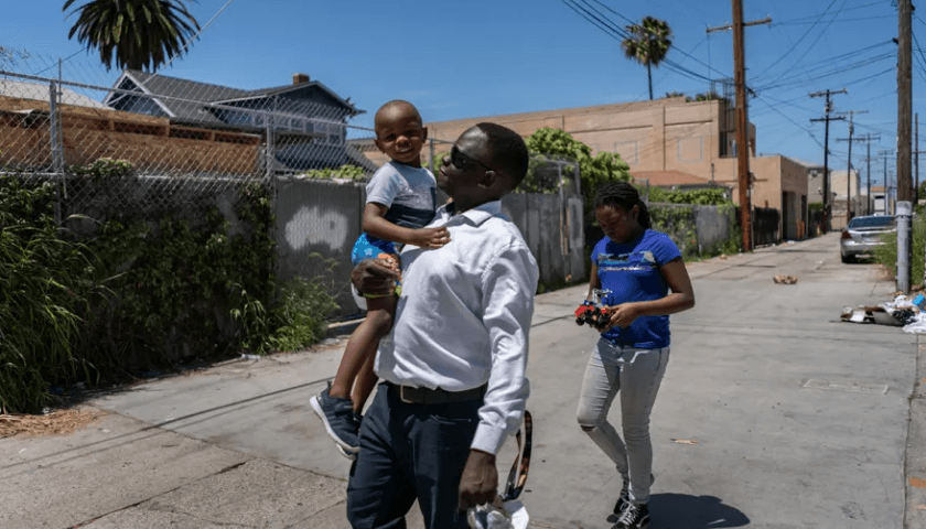
[[[380,258],[398,270],[402,245],[435,249],[448,244],[450,236],[443,227],[423,228],[437,209],[437,181],[421,166],[428,129],[418,109],[408,101],[389,101],[377,110],[374,128],[376,147],[390,161],[367,184],[364,233],[354,245],[352,259],[357,264]],[[376,349],[392,327],[397,300],[397,295],[366,296],[367,317],[351,335],[334,381],[311,401],[337,449],[351,460],[359,450],[360,412],[376,386]]]

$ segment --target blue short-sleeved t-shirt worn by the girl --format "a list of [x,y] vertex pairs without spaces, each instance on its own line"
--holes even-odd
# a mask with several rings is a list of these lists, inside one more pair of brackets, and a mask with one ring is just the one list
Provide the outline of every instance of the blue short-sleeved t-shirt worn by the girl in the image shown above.
[[[659,268],[681,257],[678,247],[666,234],[647,229],[636,240],[618,245],[601,239],[592,250],[597,264],[601,288],[611,293],[602,298],[605,305],[659,300],[668,295],[669,285]],[[629,327],[614,327],[601,333],[614,344],[642,349],[659,349],[670,343],[669,316],[640,316]]]

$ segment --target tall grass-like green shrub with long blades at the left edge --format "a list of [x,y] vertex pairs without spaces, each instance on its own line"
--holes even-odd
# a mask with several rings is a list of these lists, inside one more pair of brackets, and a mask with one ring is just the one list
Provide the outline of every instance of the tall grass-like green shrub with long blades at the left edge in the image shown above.
[[98,289],[80,245],[54,224],[54,186],[0,177],[0,407],[37,412],[53,381],[89,376],[89,300]]

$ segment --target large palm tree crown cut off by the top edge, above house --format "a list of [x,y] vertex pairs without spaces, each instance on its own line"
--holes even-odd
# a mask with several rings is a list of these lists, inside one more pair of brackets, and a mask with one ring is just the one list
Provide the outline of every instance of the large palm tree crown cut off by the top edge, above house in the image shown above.
[[[67,11],[77,0],[64,2]],[[186,48],[200,23],[184,0],[88,0],[68,13],[79,13],[68,39],[99,51],[106,69],[157,71]]]

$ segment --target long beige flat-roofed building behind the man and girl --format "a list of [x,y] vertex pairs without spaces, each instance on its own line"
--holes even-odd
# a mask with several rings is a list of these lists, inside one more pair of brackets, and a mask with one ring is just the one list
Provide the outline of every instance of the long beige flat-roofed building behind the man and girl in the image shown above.
[[[429,136],[438,140],[435,153],[449,150],[463,131],[481,121],[504,125],[527,137],[549,127],[569,132],[591,147],[621,155],[631,173],[640,171],[677,171],[704,181],[732,187],[739,202],[736,177],[735,110],[723,99],[687,101],[670,97],[653,101],[634,101],[592,107],[543,110],[537,112],[486,116],[453,121],[429,122]],[[798,236],[807,204],[807,170],[785,156],[755,158],[755,127],[750,125],[751,171],[754,175],[752,202],[783,213],[784,237]],[[374,148],[375,150],[375,148]],[[378,163],[385,159],[365,149]],[[422,152],[428,158],[429,150]]]

